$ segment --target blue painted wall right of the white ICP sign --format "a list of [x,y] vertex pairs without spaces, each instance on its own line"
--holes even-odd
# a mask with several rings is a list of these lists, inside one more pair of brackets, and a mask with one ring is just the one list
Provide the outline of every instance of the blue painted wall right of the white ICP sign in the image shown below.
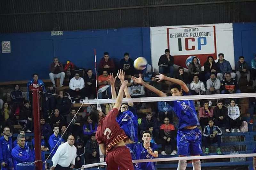
[[251,60],[256,54],[256,23],[234,23],[233,37],[235,62],[242,55],[251,66]]

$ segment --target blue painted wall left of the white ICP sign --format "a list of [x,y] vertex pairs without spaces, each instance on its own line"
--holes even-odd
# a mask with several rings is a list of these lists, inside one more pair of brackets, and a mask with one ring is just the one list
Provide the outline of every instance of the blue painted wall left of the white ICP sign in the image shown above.
[[34,73],[49,79],[53,57],[94,71],[94,48],[98,64],[105,51],[118,62],[128,52],[131,58],[144,56],[151,64],[149,27],[68,31],[63,36],[50,32],[0,34],[0,41],[11,41],[11,53],[0,52],[0,81],[29,80]]

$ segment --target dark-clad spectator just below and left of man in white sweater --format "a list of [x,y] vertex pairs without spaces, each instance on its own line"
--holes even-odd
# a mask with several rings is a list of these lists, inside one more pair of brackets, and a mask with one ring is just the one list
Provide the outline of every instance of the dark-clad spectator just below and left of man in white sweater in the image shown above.
[[71,101],[64,91],[59,91],[59,97],[57,98],[57,108],[60,110],[61,115],[67,115],[71,108]]

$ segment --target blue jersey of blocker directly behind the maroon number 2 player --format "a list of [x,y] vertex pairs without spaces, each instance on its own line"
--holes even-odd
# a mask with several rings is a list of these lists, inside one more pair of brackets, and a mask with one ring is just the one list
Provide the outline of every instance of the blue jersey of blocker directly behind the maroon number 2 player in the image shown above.
[[128,138],[134,142],[138,142],[138,117],[132,111],[127,110],[119,113],[116,117],[116,122],[124,130]]

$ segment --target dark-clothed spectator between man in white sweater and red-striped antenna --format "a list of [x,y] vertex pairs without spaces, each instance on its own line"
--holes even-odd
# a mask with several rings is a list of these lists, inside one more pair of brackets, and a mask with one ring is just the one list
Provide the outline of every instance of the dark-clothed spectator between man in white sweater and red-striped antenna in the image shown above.
[[[92,69],[87,70],[87,74],[84,76],[85,83],[85,99],[94,99],[96,97],[96,77],[92,74]],[[92,97],[91,97],[92,96]]]

